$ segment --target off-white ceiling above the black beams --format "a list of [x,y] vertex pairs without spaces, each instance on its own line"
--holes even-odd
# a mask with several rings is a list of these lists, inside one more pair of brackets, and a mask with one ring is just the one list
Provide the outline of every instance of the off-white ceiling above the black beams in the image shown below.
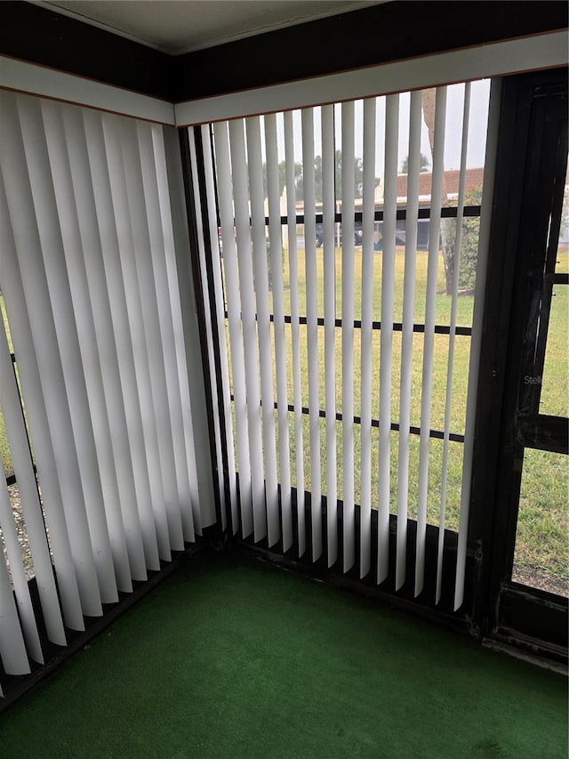
[[36,2],[178,55],[388,0],[49,0]]

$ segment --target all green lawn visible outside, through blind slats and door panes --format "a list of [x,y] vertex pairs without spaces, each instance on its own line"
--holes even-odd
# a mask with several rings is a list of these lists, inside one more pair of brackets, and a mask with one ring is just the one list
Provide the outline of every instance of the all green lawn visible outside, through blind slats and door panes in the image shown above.
[[[288,252],[283,252],[284,272],[284,311],[291,312],[290,293],[290,262]],[[562,253],[559,256],[557,270],[567,270],[569,254]],[[354,287],[354,314],[355,319],[360,319],[362,303],[362,250],[356,248],[354,253],[355,287]],[[397,248],[396,252],[396,277],[394,287],[394,321],[401,321],[403,315],[403,282],[405,274],[405,252],[403,248]],[[414,298],[414,321],[425,321],[425,298],[427,286],[428,254],[423,251],[417,253],[415,298]],[[335,251],[336,271],[336,316],[341,318],[341,249]],[[299,311],[302,316],[307,313],[307,290],[305,276],[305,252],[298,251],[298,282],[299,282]],[[568,287],[558,287],[554,309],[549,322],[548,355],[546,369],[544,371],[543,403],[548,411],[544,413],[567,414],[567,316],[569,314]],[[324,252],[322,248],[317,250],[317,314],[324,316]],[[310,294],[309,294],[310,297]],[[474,299],[472,296],[463,295],[457,300],[457,325],[469,327],[472,324]],[[442,255],[439,255],[437,268],[437,298],[435,304],[437,325],[450,323],[452,298],[445,295],[445,271]],[[373,255],[373,319],[381,320],[381,253]],[[272,335],[272,333],[271,333]],[[287,361],[287,390],[288,402],[293,403],[293,373],[292,373],[292,330],[290,325],[285,327],[286,335],[286,361]],[[379,417],[380,398],[380,335],[379,331],[373,333],[373,375],[372,375],[372,408],[373,416]],[[272,335],[274,343],[274,335]],[[325,408],[325,329],[318,328],[318,373],[319,373],[319,400],[320,408]],[[309,406],[308,384],[308,340],[307,327],[301,326],[301,404]],[[470,339],[468,336],[457,336],[454,345],[453,361],[453,384],[451,403],[451,432],[464,433],[466,400],[469,375],[469,349]],[[431,399],[431,429],[444,430],[445,427],[445,403],[446,384],[448,376],[448,335],[436,335],[433,357],[433,380]],[[274,355],[274,344],[273,344]],[[421,378],[423,360],[423,335],[416,333],[413,336],[413,368],[412,368],[412,392],[411,392],[411,424],[421,426]],[[341,410],[341,329],[336,329],[335,334],[335,362],[336,362],[336,409]],[[393,337],[393,356],[391,369],[391,421],[399,421],[400,404],[400,371],[401,371],[401,333],[395,333]],[[546,380],[548,380],[546,382]],[[361,412],[361,334],[358,329],[354,335],[354,413],[360,416]],[[273,361],[273,386],[276,388],[276,367]],[[276,392],[276,391],[275,391]],[[276,394],[275,394],[276,398]],[[555,409],[555,410],[549,410]],[[296,456],[299,454],[299,441],[295,440],[293,415],[289,415],[289,446],[293,486],[297,485],[295,476]],[[235,420],[234,420],[235,429]],[[337,429],[337,486],[338,497],[343,497],[343,478],[341,469],[341,423],[336,424]],[[379,458],[379,434],[377,428],[372,431],[372,497],[373,506],[377,506],[378,489],[378,466]],[[459,442],[451,442],[449,446],[448,466],[446,470],[447,491],[445,503],[445,526],[448,529],[458,529],[460,501],[461,501],[461,472],[462,472],[463,447]],[[326,480],[326,457],[325,445],[325,420],[320,420],[320,449],[314,465],[319,467],[323,493],[327,492]],[[309,447],[309,417],[303,417],[303,440],[302,458],[304,463],[305,488],[311,487],[311,456]],[[361,439],[360,428],[356,427],[355,439],[355,485],[356,502],[361,502]],[[569,546],[567,544],[567,459],[560,457],[560,461],[553,464],[549,459],[541,462],[535,472],[539,475],[540,488],[547,498],[537,500],[527,488],[522,492],[520,506],[520,527],[518,531],[517,564],[522,567],[539,567],[545,574],[557,579],[566,576],[566,566],[569,564]],[[391,433],[390,441],[390,509],[397,513],[397,479],[398,479],[398,433]],[[238,462],[238,456],[237,456]],[[278,462],[278,441],[277,441]],[[418,476],[419,476],[419,437],[412,436],[409,456],[409,487],[408,487],[408,515],[416,517],[418,500]],[[432,524],[438,524],[440,518],[440,490],[443,480],[443,441],[430,440],[429,445],[429,494],[428,494],[428,520]],[[527,517],[526,502],[532,507],[531,520]],[[533,525],[527,528],[528,521]],[[539,525],[539,529],[536,527]],[[552,561],[555,557],[555,561]]]

